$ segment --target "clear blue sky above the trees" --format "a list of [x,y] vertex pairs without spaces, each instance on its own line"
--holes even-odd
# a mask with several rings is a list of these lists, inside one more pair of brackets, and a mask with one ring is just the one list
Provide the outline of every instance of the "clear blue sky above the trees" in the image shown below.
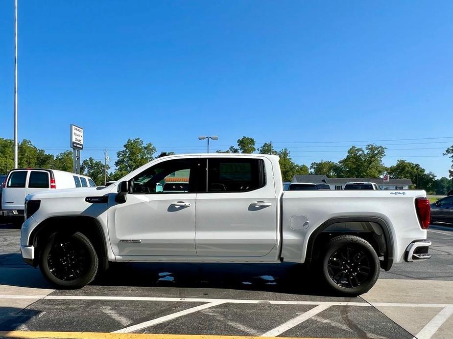
[[[115,160],[127,138],[181,153],[205,149],[198,135],[218,135],[214,149],[246,135],[307,165],[403,139],[377,142],[386,165],[447,176],[452,12],[452,1],[19,0],[19,139],[58,153],[73,123],[82,157],[107,147]],[[12,138],[13,0],[0,27],[0,137]]]

